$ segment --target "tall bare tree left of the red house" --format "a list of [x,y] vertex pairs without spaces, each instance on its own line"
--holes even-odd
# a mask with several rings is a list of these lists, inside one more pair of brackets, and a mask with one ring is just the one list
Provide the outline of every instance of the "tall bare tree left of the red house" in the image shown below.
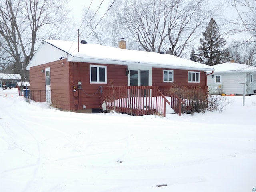
[[[0,2],[0,65],[13,66],[22,82],[39,41],[58,39],[68,24],[66,0],[2,0]],[[65,27],[65,28],[64,28]]]

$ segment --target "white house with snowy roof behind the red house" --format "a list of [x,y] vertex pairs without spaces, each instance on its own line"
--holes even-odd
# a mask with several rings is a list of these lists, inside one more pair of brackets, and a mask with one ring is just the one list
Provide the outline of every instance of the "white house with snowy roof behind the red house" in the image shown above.
[[239,63],[222,63],[213,67],[214,72],[207,76],[210,94],[243,95],[244,88],[246,95],[254,94],[256,67]]

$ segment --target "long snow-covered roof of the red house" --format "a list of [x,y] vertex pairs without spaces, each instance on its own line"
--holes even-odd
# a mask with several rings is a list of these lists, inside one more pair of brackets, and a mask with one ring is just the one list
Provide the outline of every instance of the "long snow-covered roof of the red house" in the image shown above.
[[[67,61],[89,62],[98,64],[118,64],[134,66],[150,66],[158,68],[174,68],[187,70],[214,70],[214,67],[179,58],[169,54],[135,51],[102,46],[98,44],[81,44],[71,41],[44,40],[48,44],[66,52]],[[41,44],[42,45],[42,44]]]

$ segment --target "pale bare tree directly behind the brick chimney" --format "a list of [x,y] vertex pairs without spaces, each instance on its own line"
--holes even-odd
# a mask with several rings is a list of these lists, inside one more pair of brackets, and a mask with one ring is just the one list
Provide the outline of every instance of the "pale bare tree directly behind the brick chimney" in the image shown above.
[[[127,39],[131,36],[126,28],[120,5],[122,5],[122,0],[112,0],[104,15],[85,8],[80,30],[81,36],[98,44],[118,47],[120,37]],[[130,40],[129,38],[129,44]]]

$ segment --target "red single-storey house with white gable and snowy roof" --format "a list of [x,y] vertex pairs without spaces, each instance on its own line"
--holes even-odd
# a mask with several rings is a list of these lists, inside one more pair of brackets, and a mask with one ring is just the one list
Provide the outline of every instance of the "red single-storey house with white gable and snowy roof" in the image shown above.
[[[158,92],[174,84],[206,87],[206,71],[214,70],[162,52],[124,49],[124,40],[119,45],[113,48],[85,41],[42,41],[27,67],[31,99],[50,102],[62,110],[94,112],[102,108],[102,95],[107,90],[120,99],[143,94],[151,97],[155,88]],[[130,90],[134,88],[146,92],[134,94],[136,90]],[[122,96],[117,96],[118,89]],[[162,93],[158,96],[164,98]]]

